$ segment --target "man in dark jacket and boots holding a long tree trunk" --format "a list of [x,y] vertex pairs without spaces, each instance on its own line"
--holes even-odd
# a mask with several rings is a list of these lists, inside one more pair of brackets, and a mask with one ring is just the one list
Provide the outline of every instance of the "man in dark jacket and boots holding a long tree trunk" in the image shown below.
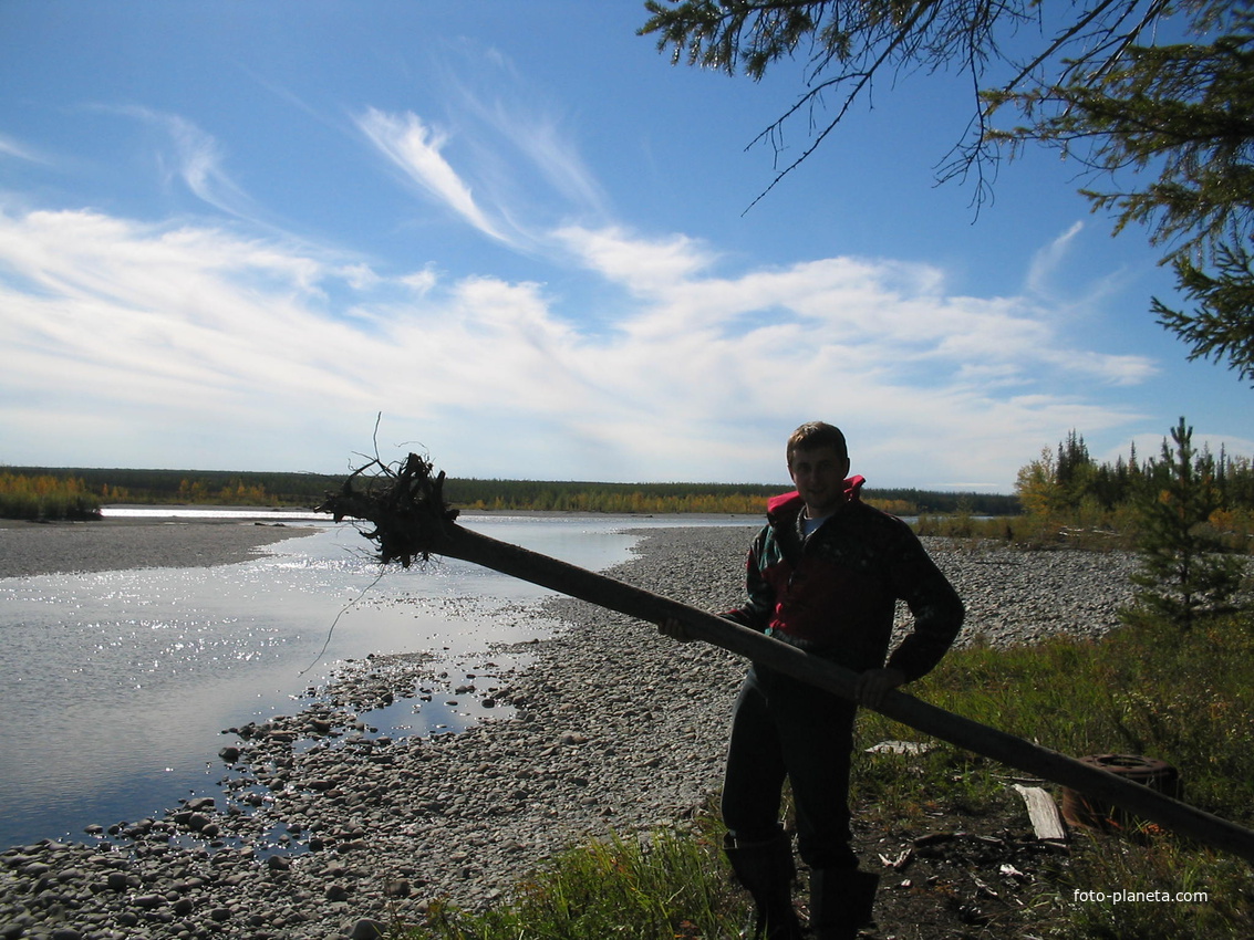
[[[963,605],[909,526],[859,499],[844,434],[819,421],[788,442],[796,491],[767,504],[767,524],[746,564],[747,602],[725,617],[858,673],[858,702],[752,664],[736,699],[722,791],[726,854],[754,899],[747,935],[794,940],[795,874],[780,825],[793,787],[798,851],[810,866],[810,929],[819,940],[854,937],[869,922],[878,876],[858,869],[850,841],[849,767],[858,703],[930,671],[962,627]],[[912,633],[885,663],[894,608]],[[677,622],[662,632],[686,639]]]

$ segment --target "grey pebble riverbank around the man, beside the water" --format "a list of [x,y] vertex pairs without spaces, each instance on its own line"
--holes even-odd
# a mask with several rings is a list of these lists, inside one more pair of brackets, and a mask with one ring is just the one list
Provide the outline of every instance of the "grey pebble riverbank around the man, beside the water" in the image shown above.
[[[721,609],[747,538],[648,530],[614,574]],[[1099,635],[1129,598],[1126,555],[929,549],[968,604],[967,643]],[[372,657],[297,713],[224,734],[221,797],[0,854],[0,937],[374,936],[434,899],[490,904],[571,843],[685,826],[719,786],[744,664],[574,600],[535,614],[564,629],[503,649],[529,653],[520,672],[446,678]],[[371,727],[374,708],[421,694],[473,699],[485,721],[423,738]]]

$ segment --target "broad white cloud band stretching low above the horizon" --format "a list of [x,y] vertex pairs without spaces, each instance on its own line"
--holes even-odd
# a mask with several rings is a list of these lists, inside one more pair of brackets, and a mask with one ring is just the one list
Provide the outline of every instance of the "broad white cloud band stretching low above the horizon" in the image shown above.
[[1060,429],[1132,417],[1068,376],[1151,368],[1070,348],[1023,301],[949,296],[927,267],[716,273],[716,252],[680,236],[562,241],[598,290],[619,292],[608,328],[562,316],[532,282],[390,277],[93,212],[0,216],[0,343],[16,352],[0,439],[125,451],[110,440],[128,424],[169,429],[167,447],[197,427],[204,450],[188,461],[268,440],[267,459],[326,469],[366,446],[382,412],[394,440],[423,441],[454,474],[772,480],[776,440],[821,416],[846,426],[873,480],[944,441],[928,452],[937,485],[1008,486]]

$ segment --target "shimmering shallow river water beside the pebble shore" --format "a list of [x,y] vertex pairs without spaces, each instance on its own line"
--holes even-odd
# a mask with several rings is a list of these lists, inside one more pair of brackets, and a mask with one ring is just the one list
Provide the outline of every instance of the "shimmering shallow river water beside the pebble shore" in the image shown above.
[[[630,556],[626,529],[693,524],[461,521],[594,570]],[[549,592],[456,560],[389,569],[376,582],[356,529],[316,525],[242,564],[0,579],[0,847],[83,838],[90,823],[159,816],[214,793],[222,729],[291,713],[346,659],[430,650],[453,683],[459,668],[522,664],[489,657],[489,645],[551,627],[529,614]],[[409,716],[409,733],[490,717],[439,698]]]

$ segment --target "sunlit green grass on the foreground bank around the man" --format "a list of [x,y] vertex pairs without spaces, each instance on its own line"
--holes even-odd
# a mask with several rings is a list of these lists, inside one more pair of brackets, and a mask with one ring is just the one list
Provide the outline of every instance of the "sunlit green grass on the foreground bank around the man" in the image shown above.
[[[1013,649],[954,650],[910,689],[974,721],[1071,756],[1127,752],[1175,766],[1185,798],[1254,825],[1254,618],[1215,619],[1189,634],[1125,628],[1102,640],[1053,639]],[[940,743],[923,757],[864,755],[884,739],[920,739],[867,713],[859,722],[854,798],[860,825],[922,825],[937,810],[981,817],[1018,801],[1004,767]],[[640,940],[735,936],[745,897],[731,884],[716,820],[695,833],[611,838],[572,849],[533,872],[505,904],[435,906],[411,940]],[[1254,936],[1254,879],[1233,856],[1150,827],[1078,833],[1068,861],[1013,927],[1040,937],[1176,940]],[[1082,900],[1088,891],[1201,891],[1205,900]],[[1009,936],[1011,934],[1007,934]]]

